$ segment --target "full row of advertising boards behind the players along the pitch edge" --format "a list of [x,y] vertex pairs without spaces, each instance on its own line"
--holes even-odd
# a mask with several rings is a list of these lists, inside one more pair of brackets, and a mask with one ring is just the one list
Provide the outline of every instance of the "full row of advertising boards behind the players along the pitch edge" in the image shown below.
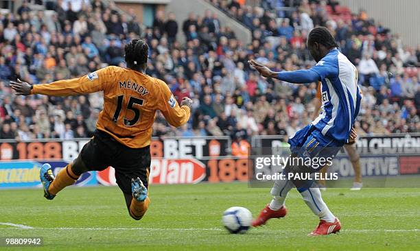
[[[89,139],[71,141],[0,141],[0,188],[38,187],[39,170],[50,163],[54,174],[70,163]],[[279,136],[255,136],[253,149],[268,148],[274,154],[287,144]],[[364,176],[420,174],[420,135],[360,137],[356,143]],[[150,146],[151,184],[247,181],[252,171],[248,158],[231,156],[229,137],[154,139]],[[258,152],[258,151],[256,151]],[[264,153],[266,154],[266,153]],[[353,176],[345,152],[334,160],[331,171]],[[116,185],[115,170],[83,174],[77,186]]]

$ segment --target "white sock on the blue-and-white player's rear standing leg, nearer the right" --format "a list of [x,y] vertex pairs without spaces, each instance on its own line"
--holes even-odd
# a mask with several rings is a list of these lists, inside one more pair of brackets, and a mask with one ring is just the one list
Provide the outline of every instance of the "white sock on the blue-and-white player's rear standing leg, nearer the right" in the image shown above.
[[301,192],[303,200],[311,208],[312,212],[325,222],[334,222],[336,217],[329,211],[327,204],[323,201],[318,187],[310,188]]

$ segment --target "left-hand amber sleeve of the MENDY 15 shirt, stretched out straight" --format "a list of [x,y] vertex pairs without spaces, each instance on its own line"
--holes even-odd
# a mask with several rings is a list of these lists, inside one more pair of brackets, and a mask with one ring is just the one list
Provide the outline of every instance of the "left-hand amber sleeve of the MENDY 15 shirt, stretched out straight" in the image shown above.
[[71,80],[58,80],[50,84],[36,84],[32,88],[31,94],[70,96],[103,91],[109,82],[111,73],[110,67],[106,67]]

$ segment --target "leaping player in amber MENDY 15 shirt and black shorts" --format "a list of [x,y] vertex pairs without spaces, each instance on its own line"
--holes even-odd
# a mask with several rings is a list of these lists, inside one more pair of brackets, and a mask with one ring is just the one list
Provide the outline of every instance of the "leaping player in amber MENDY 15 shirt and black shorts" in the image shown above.
[[100,112],[97,130],[78,158],[56,177],[49,164],[41,168],[44,196],[52,200],[84,172],[112,166],[130,216],[141,219],[150,202],[150,141],[156,110],[178,127],[187,123],[192,101],[185,97],[179,106],[165,82],[145,74],[149,47],[143,40],[131,40],[124,49],[128,68],[106,67],[51,84],[31,85],[18,80],[10,86],[18,95],[68,96],[104,91],[104,110]]

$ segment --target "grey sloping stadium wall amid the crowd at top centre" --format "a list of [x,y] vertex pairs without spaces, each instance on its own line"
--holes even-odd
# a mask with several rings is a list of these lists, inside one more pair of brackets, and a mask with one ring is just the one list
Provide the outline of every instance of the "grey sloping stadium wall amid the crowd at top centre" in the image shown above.
[[222,26],[230,27],[234,32],[237,38],[242,41],[244,45],[251,42],[252,35],[248,28],[246,28],[242,23],[239,23],[232,19],[230,16],[224,14],[224,12],[218,10],[210,3],[207,3],[205,0],[172,0],[167,4],[165,12],[174,12],[176,14],[176,21],[178,22],[178,34],[176,39],[181,43],[185,42],[185,36],[182,32],[183,21],[188,18],[189,12],[193,12],[196,15],[204,16],[206,10],[211,10],[218,14],[218,18]]

